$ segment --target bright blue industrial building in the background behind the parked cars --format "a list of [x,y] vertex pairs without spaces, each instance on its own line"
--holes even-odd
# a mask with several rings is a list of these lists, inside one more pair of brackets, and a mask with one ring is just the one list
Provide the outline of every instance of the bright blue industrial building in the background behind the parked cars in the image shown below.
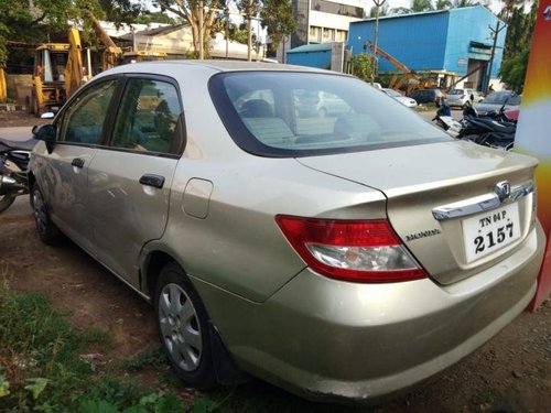
[[[409,69],[440,73],[442,80],[446,74],[461,78],[473,72],[460,85],[480,88],[486,81],[491,57],[491,29],[495,31],[498,22],[500,31],[497,34],[490,75],[490,79],[495,80],[501,66],[507,29],[484,6],[381,17],[377,43],[378,47]],[[366,41],[374,42],[374,35],[375,19],[352,22],[348,33],[352,54],[372,53],[366,47]],[[386,59],[379,57],[378,62],[379,72],[397,70]],[[476,68],[480,69],[475,70]]]

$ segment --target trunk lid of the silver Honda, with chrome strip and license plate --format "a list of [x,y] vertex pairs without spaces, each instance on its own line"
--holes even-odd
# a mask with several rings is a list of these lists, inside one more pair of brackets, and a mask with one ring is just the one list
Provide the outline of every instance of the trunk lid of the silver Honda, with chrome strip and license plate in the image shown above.
[[393,229],[441,284],[493,265],[534,224],[537,161],[520,154],[445,142],[298,162],[382,192]]

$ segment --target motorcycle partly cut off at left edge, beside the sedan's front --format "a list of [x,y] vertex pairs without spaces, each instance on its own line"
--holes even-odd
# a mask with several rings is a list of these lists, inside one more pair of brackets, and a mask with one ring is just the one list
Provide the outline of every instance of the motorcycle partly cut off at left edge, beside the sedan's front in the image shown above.
[[12,142],[0,138],[0,213],[8,209],[15,197],[29,193],[26,169],[36,142],[35,139]]

